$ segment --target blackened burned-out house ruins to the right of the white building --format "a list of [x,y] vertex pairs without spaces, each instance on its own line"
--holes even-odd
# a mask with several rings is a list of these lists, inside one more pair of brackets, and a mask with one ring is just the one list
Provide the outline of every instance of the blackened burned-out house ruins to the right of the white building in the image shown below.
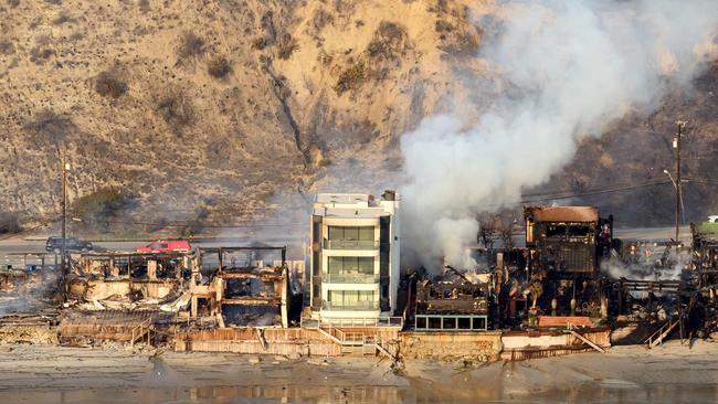
[[691,226],[688,246],[617,240],[613,217],[590,206],[529,206],[524,219],[525,246],[473,248],[472,268],[411,272],[409,323],[441,331],[605,328],[614,343],[648,345],[669,336],[718,337],[718,228]]

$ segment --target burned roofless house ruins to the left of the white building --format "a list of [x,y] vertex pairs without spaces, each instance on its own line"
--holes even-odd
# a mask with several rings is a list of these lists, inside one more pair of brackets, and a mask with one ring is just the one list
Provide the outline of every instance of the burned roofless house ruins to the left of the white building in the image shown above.
[[286,247],[83,253],[71,258],[59,321],[60,342],[66,344],[158,344],[191,330],[287,328],[289,308],[302,302],[300,289],[289,285]]

